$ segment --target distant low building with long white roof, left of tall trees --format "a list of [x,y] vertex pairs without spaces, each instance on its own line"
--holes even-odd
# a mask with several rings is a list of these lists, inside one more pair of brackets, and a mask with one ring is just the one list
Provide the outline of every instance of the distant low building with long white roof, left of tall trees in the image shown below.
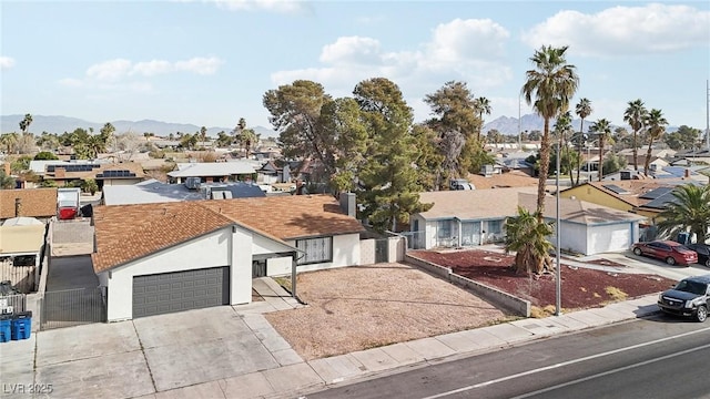
[[178,170],[168,173],[171,183],[184,183],[187,178],[200,178],[201,183],[236,182],[254,178],[256,171],[248,161],[214,163],[179,163]]

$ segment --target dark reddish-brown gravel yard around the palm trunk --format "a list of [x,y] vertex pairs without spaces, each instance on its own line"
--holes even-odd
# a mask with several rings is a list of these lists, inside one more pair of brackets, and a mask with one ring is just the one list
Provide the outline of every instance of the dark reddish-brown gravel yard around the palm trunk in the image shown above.
[[[454,273],[496,287],[545,308],[556,303],[554,274],[517,275],[510,267],[515,257],[486,250],[437,253],[417,250],[413,255],[450,267]],[[595,262],[599,265],[600,263]],[[621,266],[609,262],[609,266]],[[611,301],[635,298],[667,289],[676,282],[658,275],[622,274],[575,267],[561,262],[561,306],[564,310],[592,308]]]

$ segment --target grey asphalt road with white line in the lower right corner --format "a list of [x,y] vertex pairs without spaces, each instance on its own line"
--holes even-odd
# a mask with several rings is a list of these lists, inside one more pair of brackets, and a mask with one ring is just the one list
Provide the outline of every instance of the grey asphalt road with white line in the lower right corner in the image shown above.
[[709,358],[710,324],[658,315],[304,398],[708,398]]

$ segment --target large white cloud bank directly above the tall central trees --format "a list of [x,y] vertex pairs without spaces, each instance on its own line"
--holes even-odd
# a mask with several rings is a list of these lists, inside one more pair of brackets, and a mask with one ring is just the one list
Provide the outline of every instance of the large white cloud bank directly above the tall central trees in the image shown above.
[[467,81],[478,92],[510,80],[510,69],[503,63],[509,37],[490,20],[462,19],[436,27],[432,39],[416,50],[387,52],[377,39],[342,37],[323,47],[323,66],[277,71],[272,81],[313,80],[336,96],[349,94],[359,81],[375,76],[390,79],[416,95],[433,92],[449,80]]

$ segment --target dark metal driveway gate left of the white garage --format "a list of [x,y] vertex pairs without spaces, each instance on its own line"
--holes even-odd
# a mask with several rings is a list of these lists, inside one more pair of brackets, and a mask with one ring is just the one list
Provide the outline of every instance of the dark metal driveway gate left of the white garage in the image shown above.
[[75,288],[44,293],[40,329],[71,327],[106,320],[101,288]]

